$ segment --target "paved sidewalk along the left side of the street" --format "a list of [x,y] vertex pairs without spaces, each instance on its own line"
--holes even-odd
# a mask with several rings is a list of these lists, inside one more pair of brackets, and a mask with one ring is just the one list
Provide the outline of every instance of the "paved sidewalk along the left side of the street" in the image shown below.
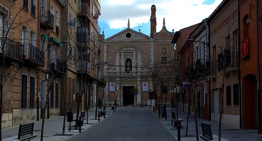
[[[98,117],[95,120],[95,111],[96,111],[95,108],[88,110],[88,124],[87,124],[87,121],[84,120],[84,124],[83,126],[81,126],[81,131],[84,131],[88,129],[89,127],[98,123]],[[106,117],[110,116],[112,113],[113,113],[113,110],[111,110],[111,107],[106,108]],[[76,118],[76,116],[77,114],[74,114],[74,118]],[[85,117],[87,118],[87,112],[85,113]],[[103,119],[104,119],[104,116],[100,117],[100,121]],[[40,136],[41,136],[42,119],[39,121],[34,121],[34,122],[35,123],[34,123],[34,132],[33,133],[37,134],[37,138],[31,139],[31,140],[39,141]],[[68,140],[69,138],[79,134],[79,128],[75,129],[75,122],[72,122],[71,131],[69,132],[69,122],[67,122],[67,119],[65,119],[65,135],[61,135],[62,126],[63,126],[63,116],[45,119],[43,140],[57,140],[57,141]],[[3,135],[2,139],[17,136],[18,130],[19,130],[19,125],[2,129],[2,135]]]

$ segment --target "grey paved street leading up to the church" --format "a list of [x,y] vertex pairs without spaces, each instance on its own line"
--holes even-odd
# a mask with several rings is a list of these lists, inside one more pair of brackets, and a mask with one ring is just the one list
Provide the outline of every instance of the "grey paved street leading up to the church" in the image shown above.
[[150,108],[120,107],[69,140],[175,140]]

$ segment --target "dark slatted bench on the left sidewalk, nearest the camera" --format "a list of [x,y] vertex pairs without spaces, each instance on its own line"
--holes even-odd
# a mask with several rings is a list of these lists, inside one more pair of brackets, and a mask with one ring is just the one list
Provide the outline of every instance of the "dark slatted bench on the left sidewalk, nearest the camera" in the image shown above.
[[34,122],[24,123],[19,125],[18,136],[10,137],[4,140],[31,140],[37,135],[33,134]]

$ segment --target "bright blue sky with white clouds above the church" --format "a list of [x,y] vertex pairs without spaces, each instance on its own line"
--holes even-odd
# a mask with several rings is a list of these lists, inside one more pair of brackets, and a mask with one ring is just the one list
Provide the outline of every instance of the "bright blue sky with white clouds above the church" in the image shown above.
[[222,0],[102,0],[98,25],[105,38],[127,28],[150,36],[151,6],[156,6],[157,32],[163,27],[172,32],[200,23],[208,18]]

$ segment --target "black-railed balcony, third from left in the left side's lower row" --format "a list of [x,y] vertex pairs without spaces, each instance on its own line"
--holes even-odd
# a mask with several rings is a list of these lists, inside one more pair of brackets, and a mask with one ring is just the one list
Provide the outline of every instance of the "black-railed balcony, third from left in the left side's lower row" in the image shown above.
[[50,70],[53,75],[57,73],[57,75],[65,75],[65,63],[58,58],[50,59]]

